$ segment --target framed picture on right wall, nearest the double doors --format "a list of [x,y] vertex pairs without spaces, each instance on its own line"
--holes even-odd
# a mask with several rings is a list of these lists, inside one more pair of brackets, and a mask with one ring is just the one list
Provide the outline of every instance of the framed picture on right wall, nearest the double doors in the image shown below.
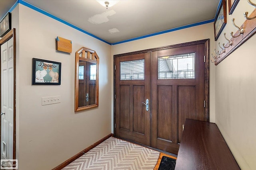
[[224,29],[227,23],[227,13],[226,13],[226,0],[222,0],[220,8],[218,9],[217,16],[214,20],[214,37],[217,41],[220,33]]

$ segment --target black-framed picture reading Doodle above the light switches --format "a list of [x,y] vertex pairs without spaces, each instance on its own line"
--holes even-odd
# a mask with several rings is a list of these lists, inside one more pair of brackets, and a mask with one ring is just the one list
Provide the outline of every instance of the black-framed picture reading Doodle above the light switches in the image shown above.
[[32,59],[32,85],[60,85],[61,63]]

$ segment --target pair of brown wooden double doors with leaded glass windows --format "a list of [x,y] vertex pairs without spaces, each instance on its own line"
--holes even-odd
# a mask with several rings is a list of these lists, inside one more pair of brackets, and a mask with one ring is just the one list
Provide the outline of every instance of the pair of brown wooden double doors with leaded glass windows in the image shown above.
[[207,46],[115,55],[114,136],[178,154],[185,119],[209,121]]

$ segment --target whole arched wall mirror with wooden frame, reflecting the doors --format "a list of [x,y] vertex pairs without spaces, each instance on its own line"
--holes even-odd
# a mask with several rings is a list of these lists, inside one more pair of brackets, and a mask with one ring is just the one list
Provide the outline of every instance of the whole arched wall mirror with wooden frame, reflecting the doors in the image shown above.
[[76,51],[75,111],[99,106],[99,57],[86,47]]

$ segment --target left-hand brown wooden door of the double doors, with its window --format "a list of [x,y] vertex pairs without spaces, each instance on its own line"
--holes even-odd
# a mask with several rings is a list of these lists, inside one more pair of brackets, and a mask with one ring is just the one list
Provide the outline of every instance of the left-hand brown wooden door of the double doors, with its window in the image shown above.
[[150,146],[150,53],[116,57],[115,135]]

